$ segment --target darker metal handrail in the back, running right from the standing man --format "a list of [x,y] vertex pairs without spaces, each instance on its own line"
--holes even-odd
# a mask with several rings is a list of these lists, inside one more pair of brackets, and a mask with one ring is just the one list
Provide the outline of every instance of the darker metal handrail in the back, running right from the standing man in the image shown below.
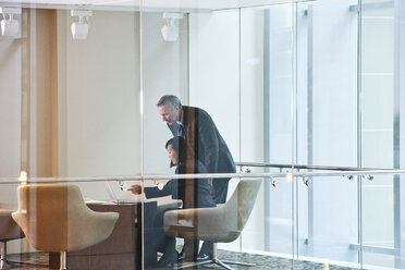
[[359,168],[359,167],[330,167],[330,165],[302,165],[302,164],[278,164],[265,162],[235,162],[238,167],[269,167],[279,169],[298,169],[298,170],[322,170],[322,171],[370,171],[370,170],[394,170],[380,168]]

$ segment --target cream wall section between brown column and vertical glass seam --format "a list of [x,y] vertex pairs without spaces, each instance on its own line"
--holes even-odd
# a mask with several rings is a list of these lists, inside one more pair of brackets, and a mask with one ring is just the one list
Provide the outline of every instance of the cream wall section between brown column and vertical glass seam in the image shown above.
[[[94,11],[87,39],[58,11],[61,176],[140,172],[139,20],[134,12]],[[82,184],[105,198],[102,183]]]

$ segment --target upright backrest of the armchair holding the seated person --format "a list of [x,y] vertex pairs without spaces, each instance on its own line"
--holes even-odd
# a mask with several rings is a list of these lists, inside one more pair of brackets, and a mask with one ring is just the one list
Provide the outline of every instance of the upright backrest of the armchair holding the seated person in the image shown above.
[[228,242],[234,241],[245,228],[255,206],[260,184],[261,179],[241,180],[231,198],[222,206],[226,228],[234,234]]

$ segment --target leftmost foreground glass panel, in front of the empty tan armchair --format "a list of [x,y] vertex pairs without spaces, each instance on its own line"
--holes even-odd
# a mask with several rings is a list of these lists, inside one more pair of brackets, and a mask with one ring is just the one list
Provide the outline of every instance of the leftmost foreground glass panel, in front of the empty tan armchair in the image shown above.
[[[0,58],[5,66],[0,70],[0,177],[17,177],[25,172],[30,181],[35,181],[34,177],[59,177],[73,182],[73,177],[77,176],[91,181],[101,175],[138,174],[142,158],[139,14],[112,8],[88,10],[82,7],[79,11],[71,13],[68,5],[60,9],[56,9],[56,5],[45,5],[47,9],[28,9],[25,5],[23,9],[10,9],[12,4],[4,5],[1,4],[1,28],[7,33],[0,36]],[[9,11],[17,14],[11,16]],[[77,14],[84,19],[79,21]],[[89,28],[87,23],[90,24]],[[9,27],[12,25],[17,25],[16,33]],[[103,221],[97,224],[93,218],[106,216],[89,211],[83,200],[106,201],[102,207],[119,212],[113,208],[121,206],[112,204],[112,197],[115,199],[130,194],[121,191],[118,182],[110,184],[111,193],[103,182],[74,183],[74,187],[50,184],[46,185],[46,189],[51,189],[49,194],[39,189],[41,185],[33,185],[34,189],[25,195],[20,193],[20,199],[24,196],[27,198],[25,205],[21,200],[17,204],[15,184],[2,184],[0,208],[15,211],[20,207],[19,225],[26,234],[21,241],[19,238],[23,235],[20,231],[17,236],[4,235],[13,219],[10,212],[0,211],[2,258],[8,250],[11,259],[20,257],[17,262],[29,262],[26,256],[38,251],[36,255],[40,255],[39,258],[34,259],[34,266],[29,268],[38,263],[38,268],[44,269],[48,267],[49,251],[69,249],[72,255],[107,238],[115,221],[100,228]],[[61,189],[57,191],[56,186]],[[113,207],[109,208],[111,205]],[[131,233],[135,225],[140,230],[140,224],[134,224],[132,216],[138,214],[140,222],[140,202],[134,202],[132,207],[134,210],[128,211],[127,222],[124,222]],[[135,212],[136,207],[139,208],[136,210],[138,212]],[[85,213],[76,214],[76,210]],[[64,216],[53,217],[56,212]],[[116,214],[110,216],[116,220]],[[25,217],[32,221],[24,221]],[[76,228],[77,222],[81,223],[81,232]],[[123,233],[120,226],[114,230],[114,234]],[[82,234],[84,232],[86,237]],[[83,243],[72,241],[72,235]],[[11,241],[9,248],[3,249],[8,241]],[[133,245],[132,249],[123,253],[121,247],[127,247],[121,245],[124,241],[121,237],[121,241],[114,245],[108,244],[103,249],[91,247],[93,257],[83,256],[89,255],[89,249],[81,254],[82,259],[91,263],[78,263],[102,269],[107,260],[114,258],[112,265],[115,269],[130,269],[135,262],[140,266],[140,256],[137,261],[134,260],[134,253],[140,253],[140,247],[135,250]],[[105,256],[96,261],[100,254]],[[4,262],[1,260],[0,268]],[[121,262],[122,267],[116,262]],[[16,266],[20,267],[19,263]],[[74,268],[77,269],[77,265],[70,267]]]

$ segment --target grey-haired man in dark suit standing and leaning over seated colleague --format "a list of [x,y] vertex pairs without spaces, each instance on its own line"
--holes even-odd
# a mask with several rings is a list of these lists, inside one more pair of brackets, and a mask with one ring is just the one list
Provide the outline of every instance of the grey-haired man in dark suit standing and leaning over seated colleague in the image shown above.
[[[199,160],[209,173],[234,173],[235,162],[225,140],[219,133],[211,116],[202,109],[182,106],[173,95],[162,96],[158,103],[158,112],[167,122],[173,136],[182,136],[187,144],[187,156]],[[212,180],[212,197],[216,204],[226,201],[230,179]],[[211,256],[210,243],[205,242],[200,258]]]

